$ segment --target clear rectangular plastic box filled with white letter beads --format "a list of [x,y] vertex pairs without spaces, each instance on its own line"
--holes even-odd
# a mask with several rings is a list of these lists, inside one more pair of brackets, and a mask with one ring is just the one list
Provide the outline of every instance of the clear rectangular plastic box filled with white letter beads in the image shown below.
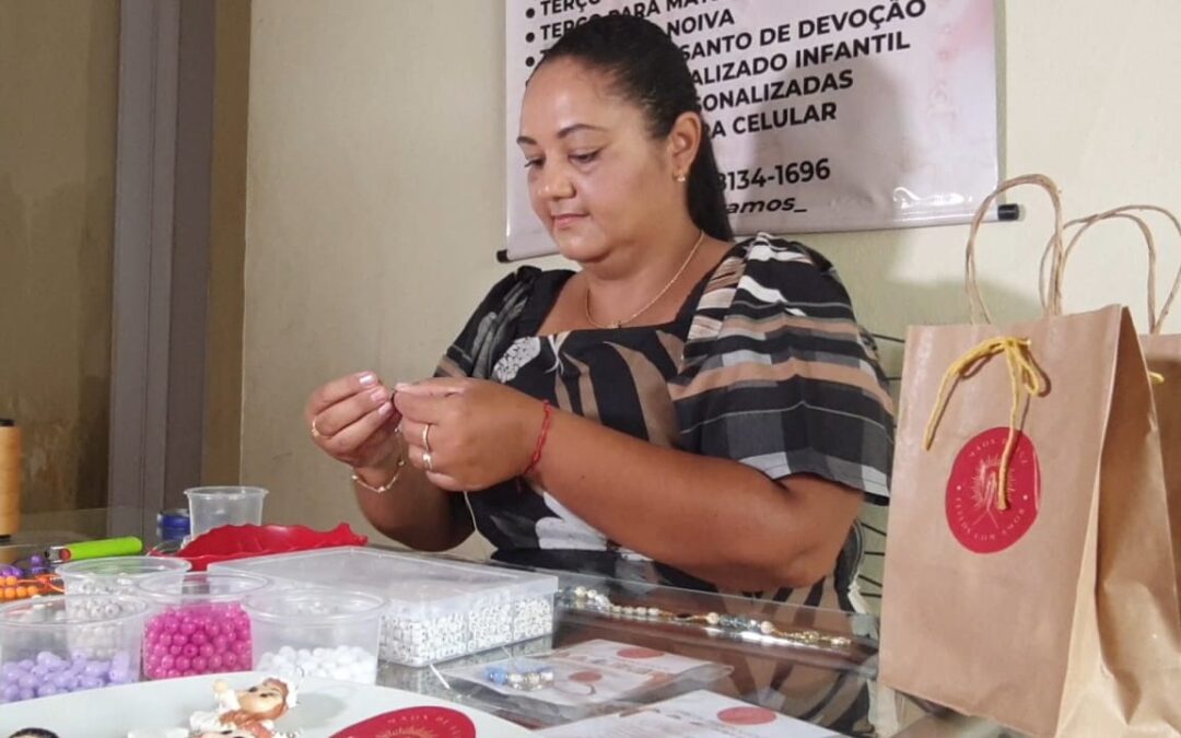
[[210,564],[283,588],[345,588],[383,597],[379,658],[426,666],[554,629],[557,577],[431,556],[347,547]]

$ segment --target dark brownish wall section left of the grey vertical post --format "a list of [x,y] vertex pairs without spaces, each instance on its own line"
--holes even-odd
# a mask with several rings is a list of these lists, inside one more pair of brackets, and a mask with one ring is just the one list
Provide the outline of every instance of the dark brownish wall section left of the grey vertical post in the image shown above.
[[0,416],[27,511],[106,503],[118,19],[0,2]]

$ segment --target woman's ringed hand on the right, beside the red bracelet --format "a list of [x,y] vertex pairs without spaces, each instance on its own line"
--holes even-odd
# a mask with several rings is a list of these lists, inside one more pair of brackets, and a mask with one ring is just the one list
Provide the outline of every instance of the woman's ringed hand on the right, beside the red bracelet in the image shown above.
[[396,388],[410,463],[439,489],[485,489],[529,465],[544,417],[541,400],[482,379],[426,379]]

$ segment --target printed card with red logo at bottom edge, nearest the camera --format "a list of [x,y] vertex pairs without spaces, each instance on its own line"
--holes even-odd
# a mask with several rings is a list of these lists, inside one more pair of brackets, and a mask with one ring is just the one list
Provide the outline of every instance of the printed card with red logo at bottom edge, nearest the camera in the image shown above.
[[706,692],[537,732],[546,738],[834,738],[830,730]]

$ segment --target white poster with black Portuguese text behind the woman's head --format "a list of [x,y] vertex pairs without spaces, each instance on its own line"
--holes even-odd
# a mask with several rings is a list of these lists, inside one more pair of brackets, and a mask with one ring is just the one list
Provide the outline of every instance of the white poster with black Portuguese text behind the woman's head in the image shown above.
[[542,52],[644,15],[697,83],[738,234],[959,223],[998,181],[993,0],[507,0],[509,259],[555,252],[516,145]]

